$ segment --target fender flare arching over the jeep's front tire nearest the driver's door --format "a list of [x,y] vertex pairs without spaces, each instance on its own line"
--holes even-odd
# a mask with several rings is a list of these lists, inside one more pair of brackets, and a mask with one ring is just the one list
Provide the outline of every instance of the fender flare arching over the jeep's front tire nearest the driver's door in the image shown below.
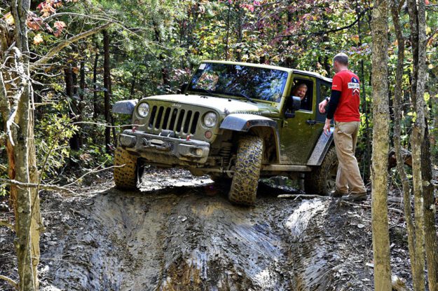
[[255,114],[229,114],[222,121],[220,128],[243,133],[249,132],[252,128],[268,128],[272,130],[275,140],[276,160],[280,161],[280,135],[278,134],[277,122],[273,119]]

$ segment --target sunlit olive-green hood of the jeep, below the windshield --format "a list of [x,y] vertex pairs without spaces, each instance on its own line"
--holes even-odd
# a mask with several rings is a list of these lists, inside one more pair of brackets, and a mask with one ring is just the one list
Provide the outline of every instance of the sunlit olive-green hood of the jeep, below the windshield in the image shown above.
[[172,102],[176,104],[187,104],[210,108],[218,111],[219,114],[257,114],[263,116],[278,116],[279,110],[270,104],[262,102],[252,103],[247,100],[238,100],[227,97],[212,97],[200,95],[158,95],[146,97],[142,100],[156,100],[163,102]]

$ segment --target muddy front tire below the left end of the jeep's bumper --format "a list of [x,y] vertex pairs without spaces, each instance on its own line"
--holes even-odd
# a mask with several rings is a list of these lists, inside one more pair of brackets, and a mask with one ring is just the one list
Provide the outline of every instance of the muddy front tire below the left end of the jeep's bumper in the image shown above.
[[[137,157],[118,147],[114,154],[114,182],[117,189],[137,189]],[[120,167],[123,165],[123,167]]]

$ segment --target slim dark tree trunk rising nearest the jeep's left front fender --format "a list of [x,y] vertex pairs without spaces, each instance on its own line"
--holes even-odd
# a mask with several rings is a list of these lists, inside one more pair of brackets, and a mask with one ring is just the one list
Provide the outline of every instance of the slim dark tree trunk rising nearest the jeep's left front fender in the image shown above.
[[107,153],[111,152],[111,113],[110,113],[110,90],[111,90],[111,67],[109,65],[109,35],[107,29],[104,29],[104,116],[105,123],[105,149]]

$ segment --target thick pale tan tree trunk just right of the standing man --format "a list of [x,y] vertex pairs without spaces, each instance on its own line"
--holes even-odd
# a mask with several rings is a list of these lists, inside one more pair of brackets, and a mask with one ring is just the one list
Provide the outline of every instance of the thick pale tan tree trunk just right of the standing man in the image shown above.
[[373,71],[373,156],[371,226],[373,231],[374,288],[391,291],[388,229],[388,1],[375,0],[371,23]]

